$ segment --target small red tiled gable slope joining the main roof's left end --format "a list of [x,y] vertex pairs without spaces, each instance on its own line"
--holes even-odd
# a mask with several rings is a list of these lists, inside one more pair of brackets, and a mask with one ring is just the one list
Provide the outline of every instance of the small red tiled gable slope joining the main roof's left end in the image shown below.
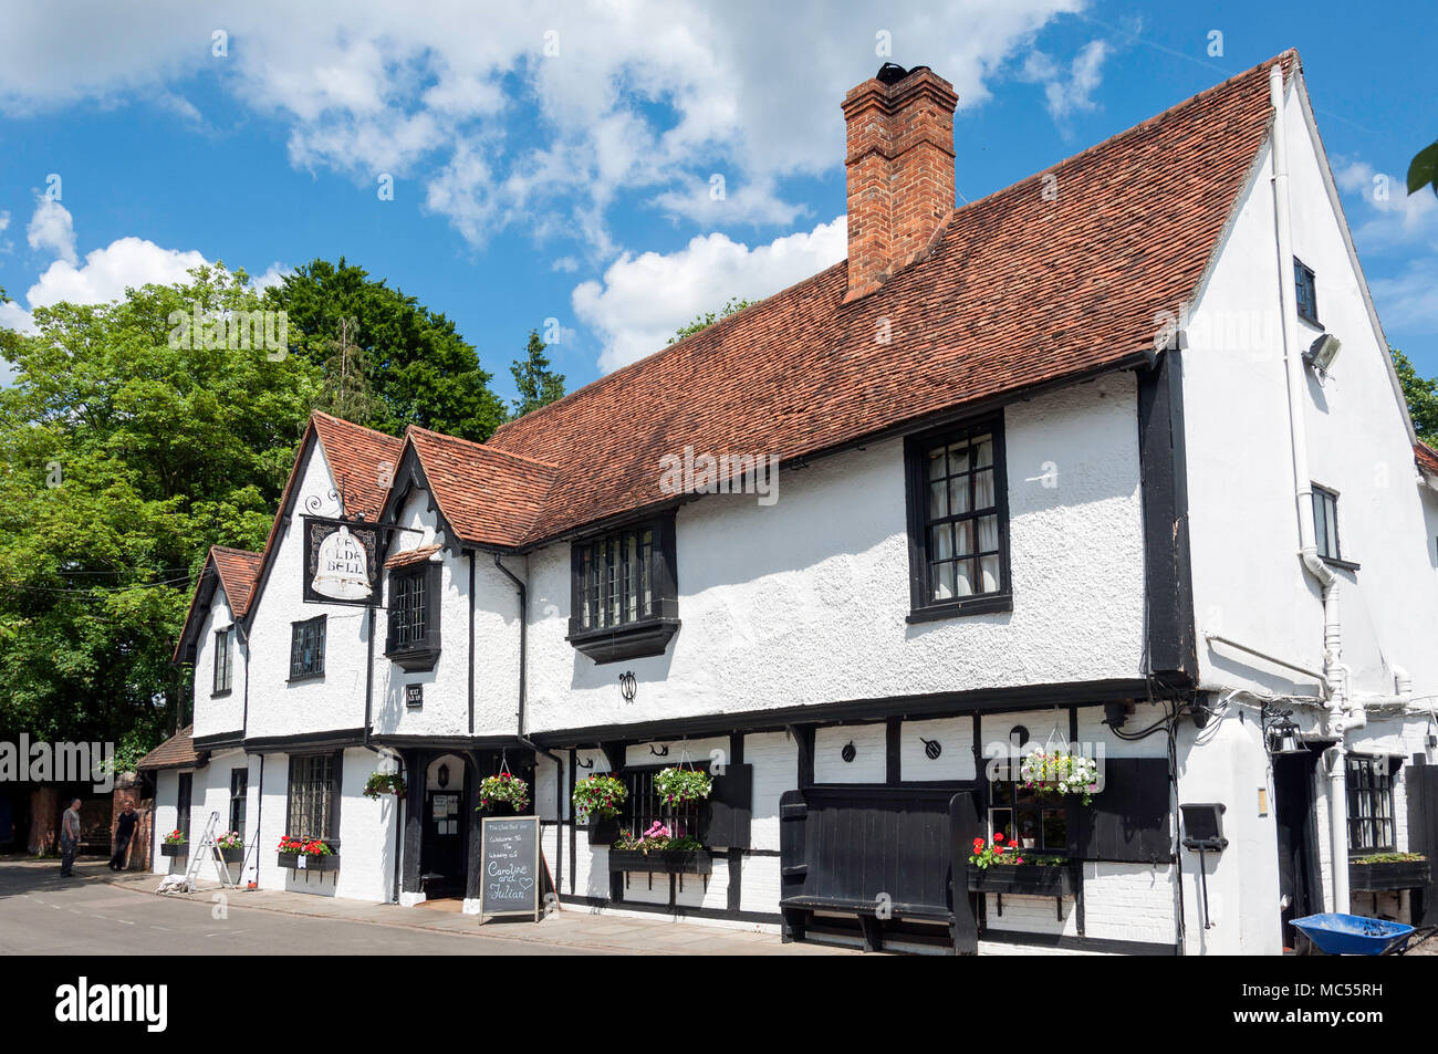
[[533,529],[554,486],[554,464],[411,427],[408,443],[440,513],[460,541],[515,546]]

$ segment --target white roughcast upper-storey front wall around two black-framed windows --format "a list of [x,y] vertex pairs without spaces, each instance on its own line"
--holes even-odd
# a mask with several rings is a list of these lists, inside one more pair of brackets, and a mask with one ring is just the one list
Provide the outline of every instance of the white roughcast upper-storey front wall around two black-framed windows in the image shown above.
[[[774,506],[745,496],[683,506],[683,627],[663,656],[597,666],[575,651],[569,546],[532,554],[529,728],[1137,676],[1135,398],[1122,374],[1005,410],[1012,613],[905,621],[900,441],[781,473]],[[638,682],[633,702],[618,692],[623,670]]]

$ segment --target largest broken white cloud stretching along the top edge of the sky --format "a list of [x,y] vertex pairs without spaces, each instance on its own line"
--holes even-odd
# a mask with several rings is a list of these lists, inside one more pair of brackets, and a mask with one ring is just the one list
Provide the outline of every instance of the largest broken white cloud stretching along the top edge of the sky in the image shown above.
[[[416,16],[404,4],[255,0],[217,16],[188,0],[88,0],[66,19],[30,4],[0,35],[0,108],[138,96],[194,119],[167,93],[214,78],[286,127],[299,167],[368,185],[391,173],[475,244],[523,224],[603,256],[607,210],[636,191],[690,220],[791,224],[800,210],[777,181],[841,162],[838,102],[877,69],[877,35],[974,106],[1083,1],[444,0]],[[229,33],[226,58],[211,55],[216,29]],[[1080,55],[1061,105],[1091,105],[1102,60],[1096,45]],[[695,194],[713,171],[726,174],[726,210]]]

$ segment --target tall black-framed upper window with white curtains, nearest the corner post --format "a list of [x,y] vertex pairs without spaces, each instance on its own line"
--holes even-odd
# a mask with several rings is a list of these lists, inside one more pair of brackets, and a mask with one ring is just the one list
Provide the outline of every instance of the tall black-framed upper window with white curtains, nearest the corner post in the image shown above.
[[912,436],[909,621],[1008,611],[1008,482],[1004,421]]

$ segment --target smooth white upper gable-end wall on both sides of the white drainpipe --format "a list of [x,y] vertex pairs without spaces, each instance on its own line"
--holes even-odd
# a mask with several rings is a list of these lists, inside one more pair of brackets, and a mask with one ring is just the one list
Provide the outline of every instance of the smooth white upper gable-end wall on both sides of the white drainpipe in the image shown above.
[[[1311,480],[1339,492],[1342,554],[1362,565],[1339,571],[1343,661],[1357,693],[1392,692],[1391,663],[1398,663],[1416,695],[1432,695],[1438,572],[1431,506],[1419,496],[1386,349],[1372,329],[1297,93],[1286,119],[1293,250],[1316,273],[1323,329],[1343,342],[1322,387],[1307,372],[1303,407]],[[1199,633],[1320,669],[1319,588],[1297,558],[1270,178],[1271,152],[1241,201],[1183,354],[1195,613]],[[1293,345],[1306,349],[1323,329],[1300,322]],[[1199,669],[1205,687],[1314,693],[1311,679],[1224,646],[1201,643]]]

